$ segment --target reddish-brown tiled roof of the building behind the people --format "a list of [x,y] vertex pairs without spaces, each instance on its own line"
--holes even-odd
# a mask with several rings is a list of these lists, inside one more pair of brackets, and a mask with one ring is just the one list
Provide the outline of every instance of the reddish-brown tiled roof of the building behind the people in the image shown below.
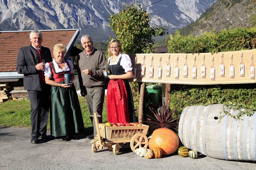
[[[52,52],[55,44],[63,43],[67,47],[66,55],[70,54],[74,42],[80,33],[79,29],[40,31],[43,34],[42,46],[48,47]],[[30,32],[0,31],[0,72],[16,72],[16,60],[19,48],[30,45]]]

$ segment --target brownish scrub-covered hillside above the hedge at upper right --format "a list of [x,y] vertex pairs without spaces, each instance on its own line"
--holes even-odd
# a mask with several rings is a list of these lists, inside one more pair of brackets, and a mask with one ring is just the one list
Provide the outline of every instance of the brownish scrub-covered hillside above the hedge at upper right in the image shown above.
[[253,27],[253,14],[256,14],[256,0],[218,0],[198,20],[180,29],[180,33],[199,36],[210,31]]

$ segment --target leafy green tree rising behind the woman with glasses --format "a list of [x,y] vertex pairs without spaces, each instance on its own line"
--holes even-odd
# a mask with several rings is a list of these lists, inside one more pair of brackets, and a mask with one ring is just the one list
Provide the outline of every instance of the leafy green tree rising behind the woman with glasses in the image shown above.
[[152,53],[154,37],[162,36],[167,32],[162,26],[150,26],[150,14],[138,2],[122,4],[122,10],[109,17],[112,27],[123,46],[125,53]]

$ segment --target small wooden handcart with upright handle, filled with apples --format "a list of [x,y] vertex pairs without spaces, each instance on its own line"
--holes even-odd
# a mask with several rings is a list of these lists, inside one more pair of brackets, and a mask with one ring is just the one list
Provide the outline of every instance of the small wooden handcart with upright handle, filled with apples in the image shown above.
[[[132,151],[139,147],[148,147],[148,125],[142,126],[118,126],[108,127],[104,123],[98,123],[96,113],[94,120],[97,129],[97,135],[92,139],[92,151],[97,152],[98,149],[104,147],[113,150],[114,154],[118,154],[120,146],[122,148],[131,148]],[[130,145],[129,145],[130,143]]]

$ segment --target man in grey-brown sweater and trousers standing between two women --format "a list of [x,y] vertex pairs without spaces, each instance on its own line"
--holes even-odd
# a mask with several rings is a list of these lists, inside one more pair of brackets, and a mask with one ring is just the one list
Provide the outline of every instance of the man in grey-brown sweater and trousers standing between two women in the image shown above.
[[85,96],[90,119],[94,128],[93,134],[88,135],[88,139],[93,139],[97,134],[93,113],[98,118],[98,123],[102,123],[102,109],[105,95],[104,68],[107,65],[106,57],[102,51],[93,47],[90,35],[83,35],[81,43],[84,51],[78,55],[78,77],[81,95]]

